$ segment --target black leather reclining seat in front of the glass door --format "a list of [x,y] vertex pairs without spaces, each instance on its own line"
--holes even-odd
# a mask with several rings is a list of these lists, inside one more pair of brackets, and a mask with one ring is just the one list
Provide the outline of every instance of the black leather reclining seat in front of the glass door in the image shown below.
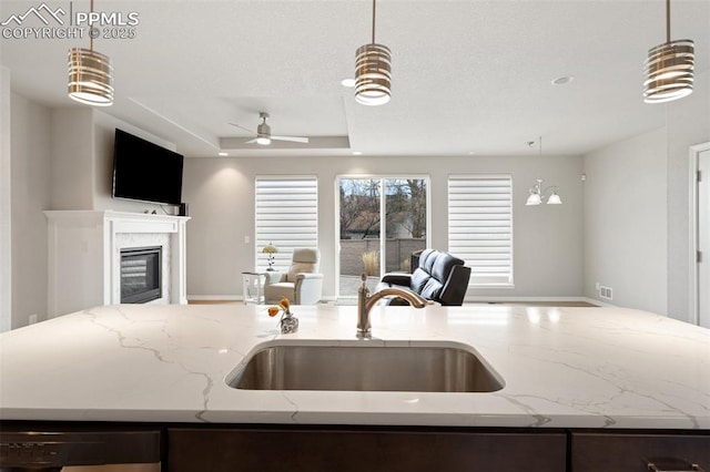
[[[464,260],[448,253],[436,249],[425,249],[419,255],[418,266],[412,274],[385,274],[376,290],[397,287],[408,288],[427,300],[445,306],[460,306],[464,304],[470,267]],[[402,298],[392,298],[388,305],[408,305]]]

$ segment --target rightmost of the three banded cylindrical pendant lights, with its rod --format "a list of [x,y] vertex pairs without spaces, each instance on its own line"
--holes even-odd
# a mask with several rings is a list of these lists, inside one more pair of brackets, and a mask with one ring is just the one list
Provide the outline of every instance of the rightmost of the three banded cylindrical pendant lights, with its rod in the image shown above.
[[694,47],[691,40],[670,40],[670,0],[666,0],[666,42],[648,51],[645,66],[646,103],[670,102],[692,93]]

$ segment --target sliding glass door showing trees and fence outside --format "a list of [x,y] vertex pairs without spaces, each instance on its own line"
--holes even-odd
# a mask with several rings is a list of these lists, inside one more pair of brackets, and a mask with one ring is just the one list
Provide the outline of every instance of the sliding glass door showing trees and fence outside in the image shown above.
[[339,296],[371,289],[385,273],[410,271],[427,246],[428,177],[338,177]]

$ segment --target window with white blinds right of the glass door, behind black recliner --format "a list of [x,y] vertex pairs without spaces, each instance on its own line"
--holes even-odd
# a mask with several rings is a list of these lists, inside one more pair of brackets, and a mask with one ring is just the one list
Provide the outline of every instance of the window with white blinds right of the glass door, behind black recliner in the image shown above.
[[513,285],[509,175],[449,176],[448,250],[471,268],[469,285]]

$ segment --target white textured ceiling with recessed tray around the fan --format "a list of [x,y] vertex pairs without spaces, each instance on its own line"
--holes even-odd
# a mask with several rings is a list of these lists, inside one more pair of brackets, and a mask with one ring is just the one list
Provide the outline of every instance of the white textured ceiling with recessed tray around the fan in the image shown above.
[[[70,3],[89,8],[47,2]],[[39,4],[2,0],[0,21]],[[665,124],[666,105],[641,100],[643,60],[666,34],[661,0],[381,0],[376,37],[392,49],[393,99],[377,107],[356,104],[341,84],[369,42],[369,1],[97,0],[94,8],[140,18],[135,38],[94,41],[115,70],[115,103],[102,111],[189,156],[221,148],[517,155],[535,152],[526,143],[540,135],[546,153],[579,154]],[[710,80],[710,0],[672,2],[672,39],[681,38],[696,42],[697,80]],[[14,91],[81,106],[65,95],[67,50],[88,40],[0,41]],[[561,75],[575,80],[550,83]],[[274,134],[312,143],[244,144],[252,136],[229,123],[255,130],[261,111]]]

